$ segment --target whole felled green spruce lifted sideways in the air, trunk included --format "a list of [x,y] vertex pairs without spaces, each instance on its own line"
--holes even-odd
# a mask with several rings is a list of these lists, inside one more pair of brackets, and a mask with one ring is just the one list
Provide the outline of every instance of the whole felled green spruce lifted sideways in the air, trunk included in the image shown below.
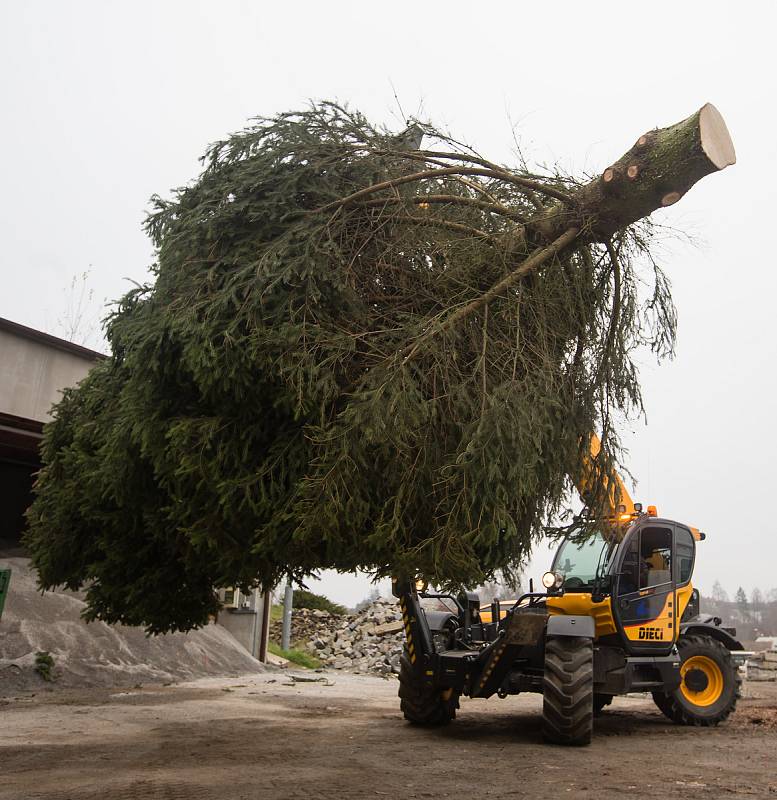
[[712,106],[587,181],[332,103],[213,145],[154,198],[154,281],[46,426],[42,586],[158,633],[321,568],[509,574],[592,431],[616,462],[634,351],[672,350],[644,218],[727,163]]

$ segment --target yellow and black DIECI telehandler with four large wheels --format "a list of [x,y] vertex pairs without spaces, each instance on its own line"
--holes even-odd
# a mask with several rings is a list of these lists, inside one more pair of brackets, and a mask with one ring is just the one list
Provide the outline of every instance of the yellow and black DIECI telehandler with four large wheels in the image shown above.
[[[717,725],[736,707],[736,631],[703,616],[691,578],[704,534],[643,512],[620,487],[614,518],[572,527],[544,591],[481,608],[476,594],[394,581],[405,627],[399,697],[407,720],[450,722],[463,694],[543,695],[546,741],[585,745],[594,714],[627,692],[652,692],[683,725]],[[438,598],[450,610],[425,610]],[[442,604],[440,604],[442,605]],[[453,610],[455,608],[455,611]]]

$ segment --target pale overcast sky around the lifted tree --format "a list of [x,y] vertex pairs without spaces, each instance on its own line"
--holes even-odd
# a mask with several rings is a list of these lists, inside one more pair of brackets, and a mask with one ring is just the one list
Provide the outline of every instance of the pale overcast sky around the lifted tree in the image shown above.
[[[3,0],[0,316],[57,333],[87,270],[96,300],[121,295],[153,259],[150,195],[192,179],[205,146],[249,117],[310,98],[399,129],[396,89],[405,115],[497,161],[512,160],[512,121],[529,156],[576,173],[713,102],[738,164],[662,215],[696,246],[661,251],[678,352],[643,359],[648,419],[629,464],[635,499],[707,531],[703,591],[777,587],[775,21],[767,3]],[[349,604],[369,590],[350,576],[322,587]]]

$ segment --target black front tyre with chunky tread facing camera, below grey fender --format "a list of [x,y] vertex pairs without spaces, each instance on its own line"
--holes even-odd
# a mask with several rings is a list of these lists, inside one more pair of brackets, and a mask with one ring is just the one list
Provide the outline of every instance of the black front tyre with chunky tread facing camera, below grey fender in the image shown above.
[[545,741],[590,744],[594,720],[594,646],[590,639],[548,637],[542,693]]

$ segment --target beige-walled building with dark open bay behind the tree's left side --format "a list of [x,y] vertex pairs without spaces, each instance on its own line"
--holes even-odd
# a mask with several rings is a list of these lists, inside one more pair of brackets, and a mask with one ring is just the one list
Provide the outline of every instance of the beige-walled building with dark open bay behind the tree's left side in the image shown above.
[[19,547],[43,423],[102,353],[0,317],[0,550]]

